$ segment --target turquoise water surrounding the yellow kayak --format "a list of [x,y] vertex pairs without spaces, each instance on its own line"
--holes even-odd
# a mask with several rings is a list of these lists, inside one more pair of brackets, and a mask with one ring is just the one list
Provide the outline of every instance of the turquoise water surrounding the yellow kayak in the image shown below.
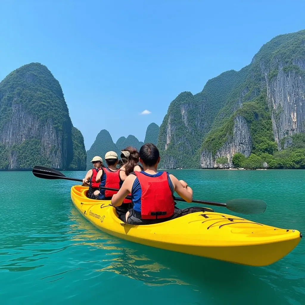
[[[247,218],[305,233],[305,170],[171,172],[193,187],[196,199],[262,199],[266,212]],[[86,221],[71,202],[73,184],[0,172],[1,304],[305,303],[304,240],[267,267],[154,249]]]

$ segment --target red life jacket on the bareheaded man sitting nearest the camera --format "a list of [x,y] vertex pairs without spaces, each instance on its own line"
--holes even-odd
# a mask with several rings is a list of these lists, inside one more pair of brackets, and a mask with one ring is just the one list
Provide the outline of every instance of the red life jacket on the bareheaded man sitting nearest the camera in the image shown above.
[[174,214],[174,198],[167,180],[167,173],[149,177],[135,172],[141,186],[142,219],[167,218]]

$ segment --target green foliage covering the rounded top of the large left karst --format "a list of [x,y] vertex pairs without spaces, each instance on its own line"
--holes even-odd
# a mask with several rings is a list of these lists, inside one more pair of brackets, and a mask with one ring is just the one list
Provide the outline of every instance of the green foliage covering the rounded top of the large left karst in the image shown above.
[[14,70],[0,83],[0,130],[11,119],[16,104],[38,117],[41,124],[51,119],[60,133],[71,124],[59,82],[40,63]]

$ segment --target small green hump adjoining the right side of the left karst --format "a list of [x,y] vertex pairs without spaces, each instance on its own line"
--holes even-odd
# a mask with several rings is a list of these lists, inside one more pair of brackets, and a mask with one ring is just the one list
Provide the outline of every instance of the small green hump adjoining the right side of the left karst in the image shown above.
[[68,170],[86,170],[87,154],[84,145],[84,137],[81,132],[72,126],[73,159]]

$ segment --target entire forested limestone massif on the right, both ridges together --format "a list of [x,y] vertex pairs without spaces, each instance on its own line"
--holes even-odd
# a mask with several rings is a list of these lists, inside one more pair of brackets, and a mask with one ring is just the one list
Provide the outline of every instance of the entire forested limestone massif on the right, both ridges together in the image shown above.
[[232,167],[236,152],[274,165],[276,151],[293,146],[294,135],[305,132],[304,96],[302,30],[273,38],[248,66],[209,80],[202,92],[178,95],[160,126],[161,166]]

